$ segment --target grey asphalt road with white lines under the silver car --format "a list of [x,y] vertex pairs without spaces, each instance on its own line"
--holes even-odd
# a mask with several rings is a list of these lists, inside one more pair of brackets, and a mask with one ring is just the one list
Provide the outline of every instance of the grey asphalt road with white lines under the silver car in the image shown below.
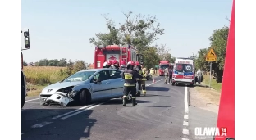
[[[164,84],[163,79],[155,77],[154,84],[146,82],[147,95],[137,97],[138,106],[123,107],[121,98],[89,106],[40,106],[37,97],[29,98],[21,111],[21,139],[192,139],[191,127],[207,120],[199,115],[207,112],[189,113],[187,88]],[[187,121],[194,125],[188,126]]]

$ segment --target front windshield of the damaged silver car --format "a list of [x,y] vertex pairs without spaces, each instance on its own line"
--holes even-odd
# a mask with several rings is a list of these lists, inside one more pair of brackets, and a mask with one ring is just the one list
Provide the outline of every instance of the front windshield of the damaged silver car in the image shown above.
[[76,82],[76,81],[85,81],[94,75],[95,71],[81,71],[77,72],[74,75],[69,76],[64,79],[62,82]]

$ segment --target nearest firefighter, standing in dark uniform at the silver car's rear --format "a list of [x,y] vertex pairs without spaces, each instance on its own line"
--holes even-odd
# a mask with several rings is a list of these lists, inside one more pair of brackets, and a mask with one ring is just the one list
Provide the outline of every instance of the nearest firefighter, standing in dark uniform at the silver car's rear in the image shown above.
[[127,63],[127,69],[124,70],[123,74],[121,75],[122,79],[125,79],[124,84],[124,95],[123,95],[123,106],[126,106],[127,96],[131,93],[132,96],[132,106],[136,106],[136,82],[135,79],[139,78],[138,73],[136,73],[133,68],[135,66],[134,61],[129,61]]

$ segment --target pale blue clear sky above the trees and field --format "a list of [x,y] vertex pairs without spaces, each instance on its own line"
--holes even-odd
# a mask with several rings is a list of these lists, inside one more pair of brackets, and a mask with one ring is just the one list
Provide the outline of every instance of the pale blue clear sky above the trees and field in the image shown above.
[[213,30],[229,25],[232,0],[21,0],[21,28],[30,29],[26,62],[67,58],[94,62],[89,38],[107,32],[102,14],[123,22],[122,12],[155,15],[172,56],[192,56],[210,46]]

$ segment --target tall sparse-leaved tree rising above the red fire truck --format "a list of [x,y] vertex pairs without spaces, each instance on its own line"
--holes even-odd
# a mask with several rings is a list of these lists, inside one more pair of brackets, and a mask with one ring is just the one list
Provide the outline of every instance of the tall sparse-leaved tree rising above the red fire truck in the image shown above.
[[[98,45],[112,45],[112,44],[130,44],[137,48],[139,54],[144,56],[145,65],[153,65],[147,62],[151,61],[149,56],[157,55],[157,51],[154,52],[151,48],[151,44],[158,39],[158,35],[162,35],[164,29],[160,28],[160,24],[156,16],[143,16],[132,15],[132,11],[123,13],[125,20],[119,25],[115,25],[114,20],[108,18],[108,15],[103,15],[106,20],[107,33],[97,33],[94,38],[89,38],[89,43],[96,46]],[[150,48],[149,48],[150,47]],[[152,54],[152,53],[155,54]],[[149,60],[146,60],[149,59]],[[154,64],[155,65],[155,64]]]

